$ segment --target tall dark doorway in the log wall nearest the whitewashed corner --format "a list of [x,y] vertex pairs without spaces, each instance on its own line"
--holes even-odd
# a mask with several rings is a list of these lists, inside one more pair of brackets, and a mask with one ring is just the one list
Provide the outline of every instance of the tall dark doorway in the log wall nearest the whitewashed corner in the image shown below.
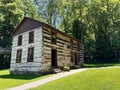
[[51,66],[52,67],[57,66],[57,50],[56,49],[51,50]]

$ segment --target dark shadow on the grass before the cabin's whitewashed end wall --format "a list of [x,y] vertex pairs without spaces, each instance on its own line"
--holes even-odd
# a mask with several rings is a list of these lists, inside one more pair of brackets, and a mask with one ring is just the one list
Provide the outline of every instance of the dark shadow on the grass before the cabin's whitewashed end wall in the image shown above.
[[30,80],[44,75],[18,75],[18,74],[6,74],[0,75],[0,78],[4,79],[23,79],[23,80]]

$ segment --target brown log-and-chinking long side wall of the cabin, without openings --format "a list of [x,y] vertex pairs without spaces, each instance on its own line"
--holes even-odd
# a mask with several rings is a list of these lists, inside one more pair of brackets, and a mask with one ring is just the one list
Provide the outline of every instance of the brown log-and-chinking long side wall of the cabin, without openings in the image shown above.
[[[51,33],[56,33],[56,44],[51,43]],[[42,70],[51,70],[51,49],[57,50],[57,66],[71,66],[75,64],[75,58],[73,54],[77,53],[78,64],[83,64],[83,45],[61,33],[57,33],[50,28],[43,27],[43,59]],[[74,62],[71,59],[74,58]]]

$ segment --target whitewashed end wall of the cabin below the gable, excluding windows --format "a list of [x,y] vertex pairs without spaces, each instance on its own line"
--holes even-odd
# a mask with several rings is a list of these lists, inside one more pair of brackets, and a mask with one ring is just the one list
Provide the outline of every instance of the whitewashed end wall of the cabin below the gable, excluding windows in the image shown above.
[[[30,73],[30,74],[39,74],[42,67],[42,28],[36,28],[31,31],[34,31],[34,43],[29,44],[29,32],[24,32],[19,35],[22,35],[22,46],[18,46],[18,35],[13,37],[12,43],[12,57],[11,57],[11,73]],[[34,47],[34,61],[27,62],[28,48]],[[22,60],[21,63],[16,63],[16,54],[17,50],[22,49]]]

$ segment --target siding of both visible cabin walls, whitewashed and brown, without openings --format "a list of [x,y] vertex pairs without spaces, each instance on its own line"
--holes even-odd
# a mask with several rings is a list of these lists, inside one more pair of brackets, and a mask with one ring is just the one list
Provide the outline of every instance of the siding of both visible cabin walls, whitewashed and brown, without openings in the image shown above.
[[[34,43],[29,44],[29,32],[34,31]],[[78,65],[83,64],[83,45],[61,33],[57,33],[49,28],[36,28],[26,31],[22,35],[22,46],[18,46],[18,36],[13,37],[11,73],[31,73],[51,71],[51,50],[57,50],[57,66],[72,66],[75,64],[75,54],[77,54]],[[51,33],[56,33],[56,44],[51,43]],[[27,62],[28,48],[34,47],[34,61]],[[17,50],[22,49],[21,63],[16,63]]]

